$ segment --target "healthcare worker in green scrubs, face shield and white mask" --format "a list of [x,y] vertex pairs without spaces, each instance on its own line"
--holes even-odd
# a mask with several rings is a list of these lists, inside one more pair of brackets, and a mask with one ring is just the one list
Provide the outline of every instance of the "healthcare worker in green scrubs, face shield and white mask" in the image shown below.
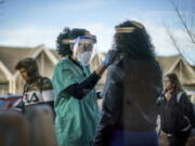
[[86,29],[65,28],[56,43],[57,52],[63,56],[52,78],[58,145],[91,146],[100,119],[94,87],[116,53],[109,51],[103,64],[91,74],[89,64],[95,36]]

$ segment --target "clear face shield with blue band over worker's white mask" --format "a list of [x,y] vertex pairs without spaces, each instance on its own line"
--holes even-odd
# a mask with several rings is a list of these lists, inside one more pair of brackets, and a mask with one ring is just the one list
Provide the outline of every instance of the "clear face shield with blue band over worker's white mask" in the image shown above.
[[74,57],[83,66],[89,65],[95,51],[96,37],[92,35],[81,36],[74,40]]

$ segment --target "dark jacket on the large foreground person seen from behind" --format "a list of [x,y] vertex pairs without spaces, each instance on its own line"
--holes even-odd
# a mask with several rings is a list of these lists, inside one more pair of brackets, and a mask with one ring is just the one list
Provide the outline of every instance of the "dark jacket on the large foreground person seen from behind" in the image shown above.
[[107,146],[115,130],[154,130],[161,81],[160,67],[154,59],[116,61],[108,70],[94,146]]

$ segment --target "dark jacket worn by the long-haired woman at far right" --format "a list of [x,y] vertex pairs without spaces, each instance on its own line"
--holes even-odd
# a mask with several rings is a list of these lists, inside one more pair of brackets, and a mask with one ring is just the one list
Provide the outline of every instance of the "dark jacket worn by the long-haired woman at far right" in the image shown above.
[[[180,97],[178,96],[179,93],[181,94]],[[157,103],[161,130],[169,134],[187,133],[195,125],[193,104],[185,92],[179,93],[174,94],[170,101],[161,95]]]

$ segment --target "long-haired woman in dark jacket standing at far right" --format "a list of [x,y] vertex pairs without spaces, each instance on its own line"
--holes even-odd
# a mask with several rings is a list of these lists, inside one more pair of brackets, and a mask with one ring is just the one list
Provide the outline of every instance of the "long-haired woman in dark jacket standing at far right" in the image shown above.
[[169,146],[185,146],[195,125],[193,105],[176,74],[165,76],[164,88],[158,99],[161,131],[167,135]]

